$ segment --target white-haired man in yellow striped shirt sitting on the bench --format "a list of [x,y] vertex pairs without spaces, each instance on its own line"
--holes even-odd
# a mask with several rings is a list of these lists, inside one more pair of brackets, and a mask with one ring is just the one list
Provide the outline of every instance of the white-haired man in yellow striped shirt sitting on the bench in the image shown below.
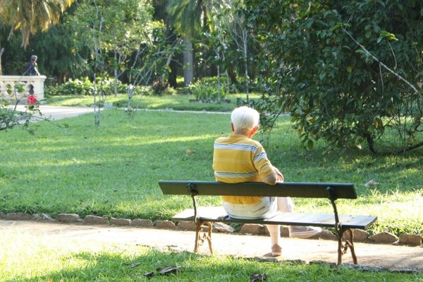
[[[224,183],[264,182],[275,185],[283,175],[272,166],[260,142],[252,140],[259,128],[259,113],[240,106],[231,114],[233,134],[214,142],[213,169],[216,181]],[[277,212],[294,212],[290,197],[221,196],[226,213],[235,219],[266,219]],[[273,257],[280,256],[280,226],[266,225]],[[321,232],[311,226],[289,226],[291,238],[309,238]]]

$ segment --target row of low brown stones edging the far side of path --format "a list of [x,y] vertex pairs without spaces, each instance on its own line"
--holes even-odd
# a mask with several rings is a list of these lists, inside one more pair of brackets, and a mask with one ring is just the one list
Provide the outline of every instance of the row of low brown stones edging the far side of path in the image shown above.
[[[48,214],[24,214],[20,212],[4,214],[0,212],[0,219],[20,220],[20,221],[59,221],[61,223],[84,223],[92,225],[109,225],[109,226],[133,226],[133,227],[156,227],[165,229],[179,229],[195,231],[196,225],[192,221],[180,221],[176,225],[173,221],[159,220],[153,223],[149,219],[109,219],[107,216],[87,215],[81,219],[78,214],[58,214],[56,219],[52,219]],[[213,230],[221,233],[234,233],[235,230],[224,223],[214,223]],[[244,224],[239,234],[244,235],[266,235],[267,229],[261,224]],[[381,232],[370,236],[367,231],[354,229],[354,240],[360,243],[376,243],[376,244],[392,244],[420,246],[422,245],[422,235],[401,234],[398,236],[388,232]],[[281,228],[281,237],[288,237],[288,228]],[[312,239],[336,240],[336,236],[328,230],[324,230],[321,234],[312,237]]]

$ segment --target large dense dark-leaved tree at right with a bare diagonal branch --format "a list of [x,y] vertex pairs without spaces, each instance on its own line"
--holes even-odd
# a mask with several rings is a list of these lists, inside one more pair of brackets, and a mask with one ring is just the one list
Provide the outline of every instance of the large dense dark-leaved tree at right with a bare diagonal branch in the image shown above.
[[245,3],[268,81],[305,146],[423,145],[421,1]]

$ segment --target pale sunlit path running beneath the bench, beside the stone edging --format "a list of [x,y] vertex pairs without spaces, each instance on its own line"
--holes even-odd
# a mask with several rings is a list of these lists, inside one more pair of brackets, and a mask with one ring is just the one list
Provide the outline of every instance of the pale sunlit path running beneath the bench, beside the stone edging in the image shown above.
[[[34,242],[63,242],[72,250],[98,246],[108,249],[111,244],[148,245],[159,250],[192,252],[194,231],[176,231],[159,228],[134,228],[116,226],[87,226],[82,223],[68,224],[0,220],[0,238],[6,233],[30,234]],[[213,234],[216,255],[237,257],[262,257],[269,252],[269,238],[259,235]],[[334,240],[282,239],[281,260],[301,259],[305,262],[321,260],[335,263],[337,245]],[[423,273],[423,247],[376,245],[355,243],[358,264],[383,267],[391,271],[411,269]],[[200,253],[208,254],[207,243]],[[344,255],[344,263],[352,263],[350,252]]]

